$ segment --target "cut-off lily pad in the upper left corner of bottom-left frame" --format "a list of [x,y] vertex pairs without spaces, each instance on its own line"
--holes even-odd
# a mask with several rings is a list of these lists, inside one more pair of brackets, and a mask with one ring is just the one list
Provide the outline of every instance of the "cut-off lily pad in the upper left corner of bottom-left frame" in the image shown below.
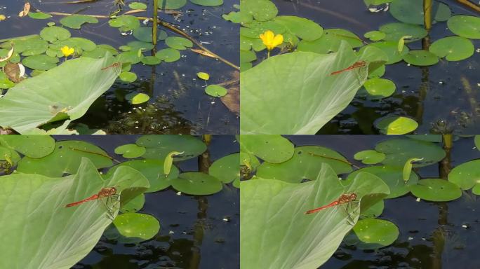
[[1,135],[0,144],[30,158],[45,157],[55,149],[55,139],[48,135]]

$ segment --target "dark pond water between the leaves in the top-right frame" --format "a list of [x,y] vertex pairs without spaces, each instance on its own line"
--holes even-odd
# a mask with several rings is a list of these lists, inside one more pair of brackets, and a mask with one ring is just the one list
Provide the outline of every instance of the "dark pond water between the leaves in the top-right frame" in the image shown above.
[[[366,32],[378,30],[389,22],[398,22],[388,12],[370,13],[364,1],[327,0],[274,0],[279,15],[296,15],[314,20],[324,29],[342,28],[363,37]],[[447,3],[453,15],[478,15],[455,1]],[[433,25],[432,41],[453,34],[446,22]],[[479,40],[472,40],[475,48]],[[421,49],[421,42],[408,43],[411,49]],[[381,101],[355,97],[347,109],[333,118],[318,134],[377,134],[373,123],[389,114],[409,116],[419,123],[415,131],[429,133],[432,123],[445,120],[454,132],[474,134],[480,132],[479,91],[480,54],[467,60],[448,62],[440,60],[430,67],[409,66],[401,61],[387,65],[385,76],[394,81],[396,92]]]

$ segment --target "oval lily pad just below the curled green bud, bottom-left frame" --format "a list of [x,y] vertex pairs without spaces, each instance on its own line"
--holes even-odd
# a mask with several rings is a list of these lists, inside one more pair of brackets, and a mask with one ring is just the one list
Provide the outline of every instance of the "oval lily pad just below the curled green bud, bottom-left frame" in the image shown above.
[[222,182],[216,177],[201,172],[187,172],[172,180],[175,190],[190,195],[210,195],[222,191]]

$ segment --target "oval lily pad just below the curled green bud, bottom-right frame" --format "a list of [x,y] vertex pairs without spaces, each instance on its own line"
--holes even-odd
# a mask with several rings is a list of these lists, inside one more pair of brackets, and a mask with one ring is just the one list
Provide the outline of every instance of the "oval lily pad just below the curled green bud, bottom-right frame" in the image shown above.
[[448,202],[462,196],[460,187],[445,179],[422,179],[417,185],[410,186],[410,191],[416,197],[432,202]]

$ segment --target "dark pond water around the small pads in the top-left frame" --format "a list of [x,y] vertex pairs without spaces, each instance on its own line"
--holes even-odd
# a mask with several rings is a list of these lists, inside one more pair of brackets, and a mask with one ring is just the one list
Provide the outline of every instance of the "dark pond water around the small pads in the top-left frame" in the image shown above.
[[[109,15],[116,10],[114,0],[90,1],[81,4],[62,4],[72,1],[34,0],[29,1],[34,8],[43,12],[78,13],[84,15]],[[124,1],[127,5],[133,1]],[[148,12],[133,15],[152,17],[152,0],[138,0],[149,6]],[[3,0],[0,14],[8,18],[0,22],[0,39],[14,36],[39,34],[47,22],[60,25],[62,16],[54,15],[47,20],[19,18],[25,1]],[[224,57],[229,62],[239,64],[239,26],[223,20],[222,14],[234,11],[235,0],[225,0],[222,6],[196,6],[190,2],[180,9],[180,14],[159,12],[159,17],[171,22],[187,32],[206,48]],[[130,8],[125,6],[124,11]],[[107,19],[99,23],[84,25],[81,29],[69,29],[72,36],[91,39],[97,44],[108,44],[119,48],[130,41],[131,35],[122,36],[118,29],[110,27]],[[178,36],[168,31],[169,36]],[[157,49],[166,48],[159,42]],[[229,65],[211,57],[201,56],[190,50],[182,50],[177,62],[162,62],[156,66],[135,64],[132,72],[138,79],[134,83],[117,81],[88,109],[85,116],[74,123],[85,123],[90,128],[105,130],[109,134],[235,134],[239,132],[239,117],[234,106],[238,104],[235,92],[239,88],[239,72]],[[144,55],[149,55],[145,52]],[[206,83],[196,77],[204,71],[210,74],[209,84],[227,83],[231,95],[227,98],[214,98],[204,92]],[[28,71],[27,71],[28,74]],[[74,76],[74,74],[72,74]],[[131,105],[120,101],[119,92],[143,92],[150,96],[147,104]],[[232,109],[227,108],[224,102]]]

